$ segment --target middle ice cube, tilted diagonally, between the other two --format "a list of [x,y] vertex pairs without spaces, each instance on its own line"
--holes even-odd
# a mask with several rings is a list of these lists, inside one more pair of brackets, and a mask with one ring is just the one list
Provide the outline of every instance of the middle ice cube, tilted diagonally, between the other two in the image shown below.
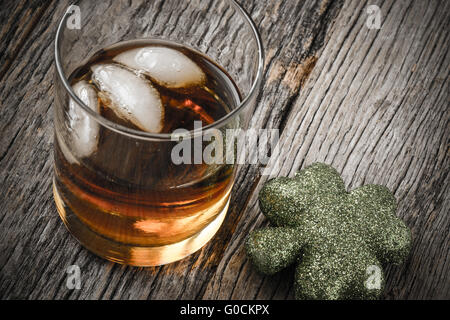
[[139,129],[158,133],[163,128],[164,109],[158,91],[150,82],[114,64],[91,67],[92,80],[111,100],[111,109]]

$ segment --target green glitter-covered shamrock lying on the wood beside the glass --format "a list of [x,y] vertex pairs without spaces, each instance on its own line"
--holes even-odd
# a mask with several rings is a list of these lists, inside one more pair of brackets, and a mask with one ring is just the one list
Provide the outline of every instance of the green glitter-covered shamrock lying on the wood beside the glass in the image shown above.
[[409,253],[411,233],[395,215],[392,193],[378,185],[347,192],[328,165],[269,181],[259,200],[275,227],[253,231],[247,255],[268,275],[297,261],[297,299],[375,299],[384,287],[381,266]]

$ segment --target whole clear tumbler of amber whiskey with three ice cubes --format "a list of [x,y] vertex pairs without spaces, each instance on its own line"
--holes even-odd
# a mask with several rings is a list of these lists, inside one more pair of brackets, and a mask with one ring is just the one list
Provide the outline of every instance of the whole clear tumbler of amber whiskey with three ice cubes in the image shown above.
[[[262,81],[258,31],[233,0],[78,1],[55,41],[56,207],[117,263],[156,266],[221,226]],[[235,136],[234,136],[235,137]]]

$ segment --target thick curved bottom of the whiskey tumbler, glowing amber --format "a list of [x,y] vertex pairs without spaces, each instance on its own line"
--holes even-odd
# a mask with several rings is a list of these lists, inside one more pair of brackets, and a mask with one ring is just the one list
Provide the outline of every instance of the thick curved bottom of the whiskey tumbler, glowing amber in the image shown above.
[[85,248],[112,262],[139,267],[175,262],[201,249],[219,230],[230,203],[228,199],[217,218],[192,237],[169,245],[144,247],[119,243],[92,231],[65,205],[55,182],[53,182],[53,196],[58,213],[67,229]]

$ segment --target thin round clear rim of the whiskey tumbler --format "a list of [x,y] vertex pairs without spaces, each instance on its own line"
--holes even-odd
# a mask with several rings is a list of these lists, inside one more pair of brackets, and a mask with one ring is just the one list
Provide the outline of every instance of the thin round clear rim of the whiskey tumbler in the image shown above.
[[[232,120],[235,116],[237,116],[245,107],[251,102],[253,97],[255,96],[257,89],[261,85],[261,81],[263,78],[263,71],[264,71],[264,48],[262,45],[261,35],[259,34],[259,31],[253,22],[253,19],[250,17],[250,15],[245,11],[245,9],[236,2],[236,0],[225,0],[229,2],[236,11],[244,18],[245,22],[250,25],[250,28],[253,32],[253,35],[256,39],[256,43],[258,46],[258,68],[256,73],[256,78],[253,81],[252,87],[250,88],[249,93],[246,95],[246,97],[240,101],[239,105],[233,109],[230,113],[226,114],[222,118],[214,121],[213,123],[204,126],[200,129],[190,130],[186,134],[177,134],[176,136],[184,137],[184,138],[195,138],[197,136],[204,135],[208,129],[214,129],[219,126],[222,126],[226,123],[228,123],[230,120]],[[114,123],[102,115],[96,113],[91,108],[89,108],[84,102],[78,98],[78,96],[75,94],[75,92],[72,89],[72,86],[69,83],[69,80],[67,79],[63,67],[62,67],[62,61],[61,61],[61,54],[59,50],[59,44],[61,43],[61,36],[63,33],[63,28],[65,25],[66,19],[70,16],[71,13],[71,6],[67,9],[64,16],[62,17],[58,30],[56,32],[56,39],[55,39],[55,63],[56,63],[56,71],[57,75],[59,77],[59,80],[62,82],[64,89],[69,93],[70,97],[78,104],[79,107],[81,107],[85,112],[88,113],[90,117],[93,117],[99,124],[102,126],[115,131],[119,134],[123,134],[126,136],[129,136],[131,138],[140,139],[140,140],[148,140],[148,141],[172,141],[174,135],[172,133],[150,133],[145,131],[139,131],[131,128],[127,128],[125,126],[122,126],[120,124]]]

